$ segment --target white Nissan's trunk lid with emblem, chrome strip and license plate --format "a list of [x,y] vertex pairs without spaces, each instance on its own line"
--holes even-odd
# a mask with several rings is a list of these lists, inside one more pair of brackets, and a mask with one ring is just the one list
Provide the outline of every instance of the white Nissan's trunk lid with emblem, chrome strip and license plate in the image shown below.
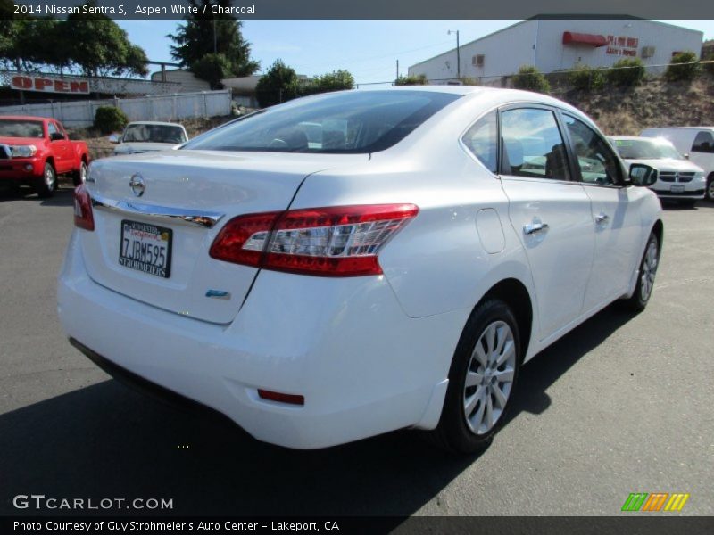
[[304,177],[367,160],[170,151],[95,161],[87,180],[95,231],[80,233],[87,272],[133,299],[227,324],[258,269],[209,257],[220,228],[239,215],[286,210]]

